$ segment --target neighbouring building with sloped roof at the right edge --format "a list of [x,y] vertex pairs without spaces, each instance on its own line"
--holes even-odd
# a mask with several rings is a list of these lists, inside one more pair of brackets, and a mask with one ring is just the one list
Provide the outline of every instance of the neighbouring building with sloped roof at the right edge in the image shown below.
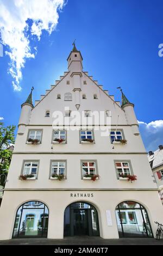
[[163,204],[163,145],[159,145],[159,149],[154,152],[149,151],[148,160],[158,185],[160,199]]

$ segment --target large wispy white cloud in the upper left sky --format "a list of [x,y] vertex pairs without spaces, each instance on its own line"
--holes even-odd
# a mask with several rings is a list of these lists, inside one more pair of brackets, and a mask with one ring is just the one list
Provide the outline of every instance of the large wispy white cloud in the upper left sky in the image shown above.
[[[29,35],[40,40],[42,30],[49,34],[58,23],[58,10],[64,7],[65,0],[0,0],[1,41],[9,47],[5,53],[10,57],[9,73],[14,78],[14,90],[21,90],[22,68],[27,58],[34,58],[30,48]],[[28,26],[27,20],[33,23]],[[36,50],[36,48],[35,48]]]

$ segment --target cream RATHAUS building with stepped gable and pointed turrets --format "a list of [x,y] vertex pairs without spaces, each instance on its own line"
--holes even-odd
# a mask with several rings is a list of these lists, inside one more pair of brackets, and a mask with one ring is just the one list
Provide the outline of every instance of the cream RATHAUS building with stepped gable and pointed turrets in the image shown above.
[[[32,92],[22,104],[0,210],[0,239],[151,237],[154,221],[163,222],[134,105],[122,90],[122,105],[115,101],[83,71],[82,60],[74,45],[68,71],[35,106]],[[94,111],[111,124],[95,118],[89,127]],[[52,126],[61,113],[65,126],[60,120]],[[74,113],[83,115],[85,124],[74,122]],[[127,181],[125,175],[137,180]]]

